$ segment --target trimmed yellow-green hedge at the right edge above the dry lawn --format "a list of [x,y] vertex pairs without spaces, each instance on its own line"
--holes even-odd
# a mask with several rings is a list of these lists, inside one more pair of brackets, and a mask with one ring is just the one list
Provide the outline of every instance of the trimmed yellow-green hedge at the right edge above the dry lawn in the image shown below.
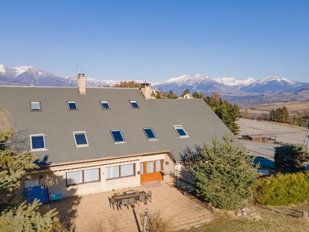
[[309,200],[309,172],[261,178],[254,187],[258,205],[290,205]]

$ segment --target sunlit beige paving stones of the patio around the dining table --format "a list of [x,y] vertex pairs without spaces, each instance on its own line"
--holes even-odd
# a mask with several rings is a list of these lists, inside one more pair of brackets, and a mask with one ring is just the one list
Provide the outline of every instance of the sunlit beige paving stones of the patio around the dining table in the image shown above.
[[[145,186],[138,186],[147,192]],[[170,187],[162,182],[158,187],[150,188],[152,200],[147,205],[135,204],[135,208],[122,207],[122,211],[110,208],[108,197],[115,192],[127,191],[121,189],[116,191],[102,192],[97,194],[78,196],[63,199],[62,202],[53,203],[50,208],[56,208],[59,212],[59,221],[72,232],[138,232],[142,231],[140,214],[148,208],[151,213],[157,213],[164,219],[170,219],[174,230],[183,230],[188,227],[200,225],[213,220],[212,214],[200,205],[189,200],[176,188]]]

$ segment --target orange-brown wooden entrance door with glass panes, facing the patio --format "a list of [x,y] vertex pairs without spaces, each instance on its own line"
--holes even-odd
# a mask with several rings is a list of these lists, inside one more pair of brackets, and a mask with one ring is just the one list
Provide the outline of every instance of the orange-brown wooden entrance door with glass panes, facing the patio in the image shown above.
[[163,180],[163,160],[155,160],[141,163],[141,184]]

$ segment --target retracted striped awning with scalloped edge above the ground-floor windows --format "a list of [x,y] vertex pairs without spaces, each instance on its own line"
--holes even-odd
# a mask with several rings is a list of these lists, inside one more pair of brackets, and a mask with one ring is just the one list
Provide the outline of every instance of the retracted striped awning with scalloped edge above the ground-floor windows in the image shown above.
[[85,162],[85,163],[76,163],[76,164],[69,164],[69,165],[59,165],[59,166],[51,166],[51,167],[44,167],[35,170],[29,170],[26,174],[35,174],[41,172],[50,172],[50,171],[63,171],[63,170],[72,170],[72,169],[79,169],[79,168],[89,168],[89,167],[97,167],[103,165],[111,165],[111,164],[118,164],[118,163],[126,163],[132,161],[139,161],[139,157],[132,157],[129,158],[119,158],[119,159],[112,159],[106,161],[93,161],[93,162]]

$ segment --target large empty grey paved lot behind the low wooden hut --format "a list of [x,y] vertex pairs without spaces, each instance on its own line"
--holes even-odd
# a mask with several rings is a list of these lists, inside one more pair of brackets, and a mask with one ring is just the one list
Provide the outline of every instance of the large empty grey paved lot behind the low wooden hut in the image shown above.
[[[266,122],[256,121],[250,119],[239,119],[237,123],[240,126],[239,135],[265,135]],[[292,144],[303,144],[306,137],[306,131],[288,127],[284,125],[277,125],[273,123],[268,123],[267,135],[270,137],[277,136],[277,141]]]

